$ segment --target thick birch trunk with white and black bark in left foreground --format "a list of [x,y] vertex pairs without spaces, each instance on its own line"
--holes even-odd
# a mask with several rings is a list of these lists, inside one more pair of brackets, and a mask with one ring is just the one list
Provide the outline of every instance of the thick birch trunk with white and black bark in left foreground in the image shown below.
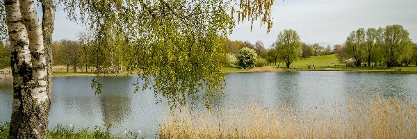
[[35,1],[5,0],[4,4],[10,45],[13,47],[10,61],[13,112],[9,138],[47,138],[51,103],[50,61],[47,61],[48,53],[44,49]]

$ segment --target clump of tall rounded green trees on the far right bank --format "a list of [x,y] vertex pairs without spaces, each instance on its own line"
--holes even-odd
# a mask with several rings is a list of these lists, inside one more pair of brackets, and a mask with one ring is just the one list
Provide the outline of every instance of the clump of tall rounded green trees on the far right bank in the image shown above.
[[408,31],[397,24],[359,28],[350,33],[343,46],[334,49],[342,62],[354,62],[356,66],[409,66],[413,62],[417,65],[416,44],[411,42]]

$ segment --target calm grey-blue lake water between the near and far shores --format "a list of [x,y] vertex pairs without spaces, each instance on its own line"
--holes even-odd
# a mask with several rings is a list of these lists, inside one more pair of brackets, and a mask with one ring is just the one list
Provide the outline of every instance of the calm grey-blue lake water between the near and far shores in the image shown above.
[[[168,113],[163,98],[153,90],[133,93],[136,76],[104,76],[103,92],[95,95],[94,77],[54,77],[49,127],[57,124],[76,128],[106,126],[112,133],[140,131],[153,137]],[[379,93],[417,101],[417,74],[372,72],[279,72],[227,74],[226,96],[215,107],[245,105],[257,100],[268,106],[290,104],[304,109]],[[0,123],[10,121],[12,79],[0,79]],[[156,104],[156,101],[162,100]]]

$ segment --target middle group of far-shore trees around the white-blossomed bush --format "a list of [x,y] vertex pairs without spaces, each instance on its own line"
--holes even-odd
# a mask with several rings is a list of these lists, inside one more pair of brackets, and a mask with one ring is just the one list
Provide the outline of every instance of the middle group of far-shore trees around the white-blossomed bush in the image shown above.
[[[249,49],[252,49],[254,54],[256,54],[253,55],[256,56],[256,59],[254,59],[255,62],[253,63],[256,67],[265,66],[269,63],[275,63],[275,65],[277,65],[278,62],[285,63],[286,67],[289,68],[291,63],[298,58],[337,54],[338,51],[341,51],[341,45],[335,45],[334,49],[332,49],[329,45],[327,47],[322,47],[320,44],[306,44],[300,41],[300,36],[297,34],[297,31],[289,29],[281,31],[277,36],[277,40],[269,49],[265,49],[263,42],[260,40],[256,41],[255,44],[251,44],[248,41],[230,41],[225,39],[222,48],[224,51],[222,63],[224,63],[224,66],[226,67],[234,67],[234,63],[239,63],[239,66],[242,68],[254,67],[247,66],[247,64],[241,64],[245,63],[242,62],[242,58],[247,57],[247,54],[249,53],[247,51],[250,51]],[[245,56],[240,56],[243,51]]]

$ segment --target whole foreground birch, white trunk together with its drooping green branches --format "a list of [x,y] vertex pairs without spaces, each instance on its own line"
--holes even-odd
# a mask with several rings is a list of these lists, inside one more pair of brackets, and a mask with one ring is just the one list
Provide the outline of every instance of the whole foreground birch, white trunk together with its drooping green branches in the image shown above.
[[[14,103],[10,138],[46,138],[51,98],[53,0],[38,1],[42,24],[33,0],[0,2],[1,37],[9,36],[13,47],[11,65]],[[144,88],[152,88],[169,104],[185,104],[186,98],[202,94],[206,106],[221,92],[224,75],[219,74],[219,35],[226,36],[237,22],[260,19],[272,27],[273,1],[58,1],[72,19],[95,31],[97,46],[118,27],[126,33],[124,56],[127,69],[140,71]],[[229,14],[230,12],[230,14]],[[6,26],[10,28],[6,29]],[[252,28],[252,26],[251,26]],[[6,31],[8,30],[8,31]],[[8,33],[6,33],[8,32]],[[117,32],[113,32],[117,33]],[[102,43],[104,42],[104,43]],[[191,72],[190,72],[191,71]],[[152,82],[154,81],[154,82]],[[198,93],[199,90],[206,91]],[[24,92],[24,93],[22,93]],[[24,98],[24,99],[23,99]],[[24,106],[21,106],[24,105]],[[25,109],[23,109],[25,108]]]

